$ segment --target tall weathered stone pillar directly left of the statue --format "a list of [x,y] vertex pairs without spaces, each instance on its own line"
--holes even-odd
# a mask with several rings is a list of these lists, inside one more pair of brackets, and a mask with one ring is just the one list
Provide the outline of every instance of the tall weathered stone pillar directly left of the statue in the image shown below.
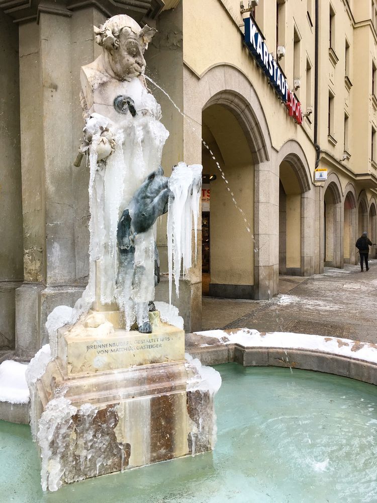
[[52,309],[72,306],[87,281],[88,170],[72,164],[83,127],[79,68],[97,56],[92,26],[104,20],[91,8],[40,9],[38,24],[19,27],[25,280],[16,292],[16,349],[23,357],[47,342]]

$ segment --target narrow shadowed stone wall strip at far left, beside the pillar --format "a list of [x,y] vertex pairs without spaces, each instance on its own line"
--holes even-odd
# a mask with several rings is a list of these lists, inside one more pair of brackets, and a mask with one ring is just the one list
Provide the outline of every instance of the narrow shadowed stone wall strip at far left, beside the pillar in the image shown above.
[[0,47],[0,350],[9,350],[15,346],[15,289],[23,279],[20,85],[18,28],[1,12]]

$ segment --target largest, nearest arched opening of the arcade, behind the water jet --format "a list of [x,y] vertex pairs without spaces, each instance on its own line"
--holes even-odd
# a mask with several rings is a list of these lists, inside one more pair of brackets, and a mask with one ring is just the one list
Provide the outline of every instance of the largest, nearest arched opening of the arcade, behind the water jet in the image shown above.
[[[202,213],[203,293],[254,298],[254,162],[235,114],[215,103],[203,111],[202,164],[209,204]],[[215,159],[213,158],[215,157]],[[220,163],[226,180],[216,165]],[[235,202],[237,205],[235,204]],[[242,213],[241,211],[242,210]],[[245,222],[246,219],[246,222]],[[247,230],[249,228],[249,231]],[[208,290],[206,292],[206,285]]]

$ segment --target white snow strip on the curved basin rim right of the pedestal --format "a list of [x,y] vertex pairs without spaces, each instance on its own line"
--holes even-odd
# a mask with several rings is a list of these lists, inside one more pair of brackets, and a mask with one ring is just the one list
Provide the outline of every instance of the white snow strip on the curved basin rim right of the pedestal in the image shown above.
[[[377,345],[341,339],[339,337],[317,336],[315,334],[294,332],[259,332],[249,328],[232,330],[207,330],[194,334],[210,339],[217,339],[216,344],[239,344],[245,348],[279,348],[289,350],[316,351],[362,360],[377,365]],[[204,343],[200,347],[214,344]]]

